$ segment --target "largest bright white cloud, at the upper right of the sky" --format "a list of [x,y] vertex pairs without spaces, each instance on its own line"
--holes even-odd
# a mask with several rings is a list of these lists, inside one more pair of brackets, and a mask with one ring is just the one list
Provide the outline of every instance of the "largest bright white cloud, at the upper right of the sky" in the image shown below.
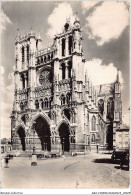
[[103,45],[117,39],[129,25],[129,11],[125,2],[107,1],[97,6],[86,18],[87,34]]

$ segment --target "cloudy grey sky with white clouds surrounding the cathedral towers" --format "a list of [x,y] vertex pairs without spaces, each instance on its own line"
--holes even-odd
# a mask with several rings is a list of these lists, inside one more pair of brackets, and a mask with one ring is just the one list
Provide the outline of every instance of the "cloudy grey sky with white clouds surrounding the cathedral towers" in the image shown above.
[[12,1],[1,3],[1,138],[10,138],[13,106],[15,37],[40,31],[43,48],[77,12],[83,34],[88,75],[94,85],[114,82],[117,69],[122,90],[123,122],[129,125],[129,2]]

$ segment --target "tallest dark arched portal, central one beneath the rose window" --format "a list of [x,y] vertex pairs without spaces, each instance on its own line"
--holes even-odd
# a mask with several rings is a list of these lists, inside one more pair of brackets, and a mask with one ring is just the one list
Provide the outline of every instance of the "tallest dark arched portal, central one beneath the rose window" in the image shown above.
[[40,141],[42,150],[51,150],[51,141],[50,141],[50,127],[47,121],[41,116],[36,119],[35,131],[37,132]]

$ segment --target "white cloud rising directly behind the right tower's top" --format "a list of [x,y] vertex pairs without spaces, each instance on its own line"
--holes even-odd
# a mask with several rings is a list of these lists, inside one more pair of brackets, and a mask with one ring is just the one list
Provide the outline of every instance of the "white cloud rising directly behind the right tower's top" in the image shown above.
[[50,25],[50,28],[46,33],[47,36],[52,38],[55,34],[62,32],[66,18],[69,17],[71,24],[73,24],[74,16],[71,5],[66,2],[59,3],[48,17],[48,24]]

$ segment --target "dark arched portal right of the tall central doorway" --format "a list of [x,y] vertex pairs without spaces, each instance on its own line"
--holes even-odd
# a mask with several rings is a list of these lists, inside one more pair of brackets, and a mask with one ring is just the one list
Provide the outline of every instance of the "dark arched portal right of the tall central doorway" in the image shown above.
[[69,126],[66,123],[62,123],[59,127],[59,136],[61,140],[62,151],[70,150],[69,135]]

